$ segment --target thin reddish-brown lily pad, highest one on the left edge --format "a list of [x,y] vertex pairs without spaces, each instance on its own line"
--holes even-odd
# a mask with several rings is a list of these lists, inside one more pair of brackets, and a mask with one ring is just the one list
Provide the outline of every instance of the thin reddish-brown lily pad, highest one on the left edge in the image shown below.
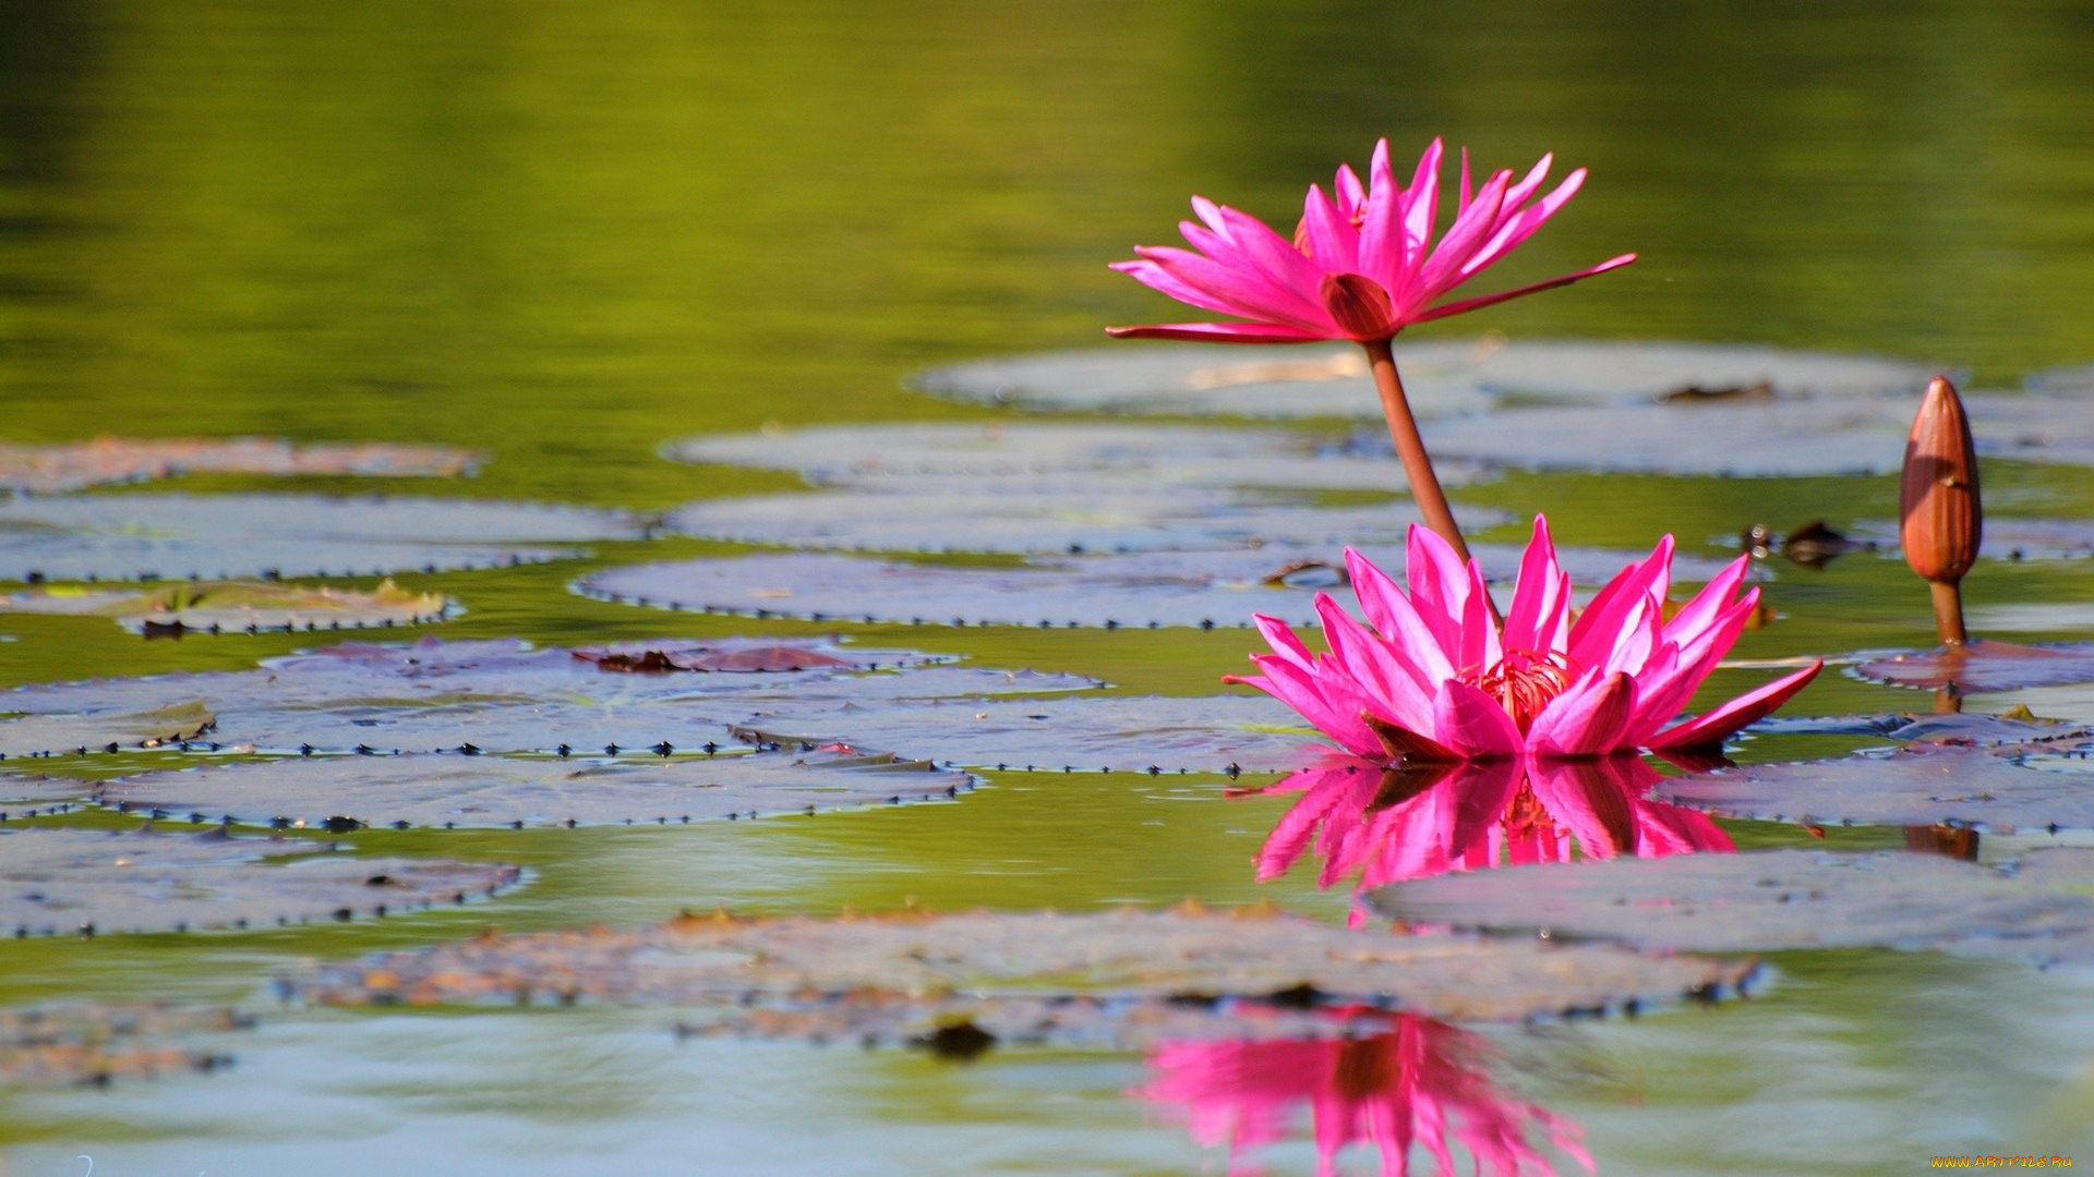
[[358,478],[450,478],[477,457],[450,446],[314,442],[281,438],[94,438],[92,442],[0,442],[0,488],[57,494],[111,482],[180,473],[274,473]]

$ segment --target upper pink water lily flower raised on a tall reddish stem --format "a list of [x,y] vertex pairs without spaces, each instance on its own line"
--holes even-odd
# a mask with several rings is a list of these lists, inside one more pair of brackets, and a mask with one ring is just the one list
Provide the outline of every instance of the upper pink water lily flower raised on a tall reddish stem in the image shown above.
[[1501,170],[1478,188],[1464,149],[1453,222],[1434,243],[1443,155],[1445,147],[1434,138],[1405,188],[1388,161],[1388,140],[1376,142],[1365,182],[1351,165],[1340,165],[1330,193],[1309,186],[1292,241],[1250,214],[1194,197],[1200,222],[1179,222],[1191,249],[1141,245],[1135,247],[1133,262],[1112,268],[1183,304],[1246,323],[1110,327],[1108,335],[1217,343],[1357,341],[1367,350],[1367,367],[1411,496],[1418,498],[1426,526],[1466,559],[1468,547],[1418,436],[1388,341],[1413,323],[1483,310],[1604,274],[1627,266],[1635,253],[1510,291],[1439,302],[1533,237],[1585,184],[1585,170],[1579,168],[1537,199],[1554,161],[1543,155],[1527,176],[1514,180],[1510,170]]

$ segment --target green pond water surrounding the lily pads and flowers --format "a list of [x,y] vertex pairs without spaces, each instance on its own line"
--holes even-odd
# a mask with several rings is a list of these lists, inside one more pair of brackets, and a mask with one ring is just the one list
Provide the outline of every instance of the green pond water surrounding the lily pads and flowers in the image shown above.
[[[1591,168],[1579,199],[1493,274],[1501,285],[1642,253],[1575,289],[1418,329],[1420,341],[1489,331],[1514,343],[1765,343],[1910,358],[1966,390],[2021,390],[2094,360],[2090,61],[2094,15],[2067,0],[1903,13],[0,4],[0,440],[276,436],[482,454],[473,478],[197,473],[149,492],[392,490],[639,515],[789,492],[802,482],[785,469],[678,463],[662,446],[1005,417],[903,379],[1101,343],[1108,323],[1179,318],[1106,264],[1135,241],[1171,241],[1191,193],[1292,222],[1305,182],[1340,159],[1363,163],[1382,134],[1399,157],[1447,136],[1487,165],[1554,151]],[[1985,480],[1998,513],[2094,517],[2079,467],[1993,461]],[[1566,545],[1648,551],[1671,532],[1684,555],[1709,559],[1755,524],[1868,534],[1895,517],[1897,482],[1562,471],[1478,475],[1451,494],[1457,509],[1508,519],[1472,536],[1491,545],[1520,542],[1520,519],[1545,509]],[[1376,501],[1365,488],[1336,496]],[[454,641],[844,632],[863,649],[1085,674],[1133,695],[1215,693],[1256,643],[1233,624],[840,630],[670,614],[570,584],[743,549],[616,538],[639,534],[622,517],[593,526],[603,530],[490,536],[586,551],[574,559],[400,582],[463,605],[429,630]],[[2090,570],[2084,551],[1987,559],[1968,580],[1975,624],[2004,618],[2012,641],[2090,639]],[[1895,555],[1772,561],[1763,593],[1780,618],[1746,632],[1734,658],[1933,645],[1926,593]],[[0,614],[0,637],[6,687],[247,670],[325,645],[140,641],[101,616],[29,614]],[[1719,672],[1696,706],[1765,679]],[[1975,695],[1970,710],[2014,702]],[[2094,723],[2086,687],[2025,702]],[[1914,706],[1926,710],[1924,695],[1828,670],[1788,710]],[[1885,741],[1769,731],[1734,752],[1769,762],[1872,743]],[[121,752],[38,767],[109,777],[165,764]],[[364,829],[350,836],[360,852],[505,861],[526,882],[387,919],[8,940],[6,1007],[230,1003],[260,1022],[207,1037],[235,1056],[230,1070],[0,1087],[0,1173],[1217,1173],[1227,1150],[1185,1125],[1202,1097],[1292,1116],[1240,1160],[1309,1173],[1302,1091],[1315,1074],[1374,1072],[1374,1049],[1267,1064],[1076,1043],[953,1064],[678,1037],[660,1007],[327,1009],[285,1003],[274,984],[488,924],[634,928],[716,905],[1101,911],[1198,896],[1342,921],[1349,888],[1319,890],[1309,863],[1256,880],[1292,798],[1225,798],[1238,781],[1212,769],[986,771],[955,802],[754,823]],[[1713,825],[1740,850],[1906,846],[1899,827]],[[1979,859],[2058,842],[2088,838],[1987,831]],[[1562,1171],[1579,1162],[1543,1125],[1575,1125],[1604,1173],[1908,1173],[1973,1154],[2094,1162],[2094,976],[2073,965],[1778,951],[1742,1001],[1462,1030],[1403,1022],[1388,1035],[1390,1051],[1453,1060],[1449,1083],[1466,1083],[1474,1106],[1510,1108],[1535,1156]],[[1212,1079],[1238,1072],[1311,1079],[1273,1079],[1263,1093]],[[1202,1095],[1202,1081],[1223,1095]],[[1430,1171],[1424,1146],[1416,1158]],[[1346,1162],[1376,1167],[1369,1150]]]

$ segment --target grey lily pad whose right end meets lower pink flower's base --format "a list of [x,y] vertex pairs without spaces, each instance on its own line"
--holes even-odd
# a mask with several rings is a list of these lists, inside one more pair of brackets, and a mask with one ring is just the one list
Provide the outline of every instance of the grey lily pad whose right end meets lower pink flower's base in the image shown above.
[[844,741],[1026,773],[1286,773],[1330,746],[1265,695],[789,702],[737,727],[756,743]]

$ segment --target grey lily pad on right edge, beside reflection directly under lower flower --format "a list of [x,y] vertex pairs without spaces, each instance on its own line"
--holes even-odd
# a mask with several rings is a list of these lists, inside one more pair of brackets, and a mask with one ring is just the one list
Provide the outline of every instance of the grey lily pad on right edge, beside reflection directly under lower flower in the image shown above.
[[1658,800],[1803,825],[2094,829],[2094,739],[1912,743],[1885,754],[1744,764],[1658,785]]

